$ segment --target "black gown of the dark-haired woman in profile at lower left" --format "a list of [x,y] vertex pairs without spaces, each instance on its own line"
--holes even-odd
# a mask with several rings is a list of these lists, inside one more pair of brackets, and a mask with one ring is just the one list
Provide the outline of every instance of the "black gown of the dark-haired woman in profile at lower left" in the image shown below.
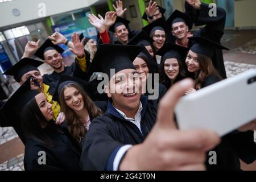
[[[66,133],[52,133],[55,147],[47,146],[38,138],[28,138],[25,146],[24,169],[28,171],[81,170],[81,148]],[[46,152],[46,164],[39,165],[39,151]],[[40,161],[40,160],[39,160]]]

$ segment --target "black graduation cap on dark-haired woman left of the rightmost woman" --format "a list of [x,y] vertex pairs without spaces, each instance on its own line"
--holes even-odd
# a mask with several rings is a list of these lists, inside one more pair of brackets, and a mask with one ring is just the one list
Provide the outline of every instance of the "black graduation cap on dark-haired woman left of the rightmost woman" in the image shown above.
[[156,52],[157,55],[162,56],[161,63],[166,59],[175,58],[179,61],[184,61],[185,56],[188,53],[188,48],[179,46],[174,43],[166,43],[162,48]]

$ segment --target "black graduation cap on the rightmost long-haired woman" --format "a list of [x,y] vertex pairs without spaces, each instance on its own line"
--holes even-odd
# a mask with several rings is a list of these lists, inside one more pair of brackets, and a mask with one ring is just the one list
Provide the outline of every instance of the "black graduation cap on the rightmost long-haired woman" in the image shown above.
[[191,46],[190,48],[191,51],[210,58],[213,56],[214,49],[229,50],[229,48],[221,46],[221,44],[213,42],[212,40],[204,38],[202,36],[191,36],[188,39],[189,41],[192,41],[194,43],[193,46]]

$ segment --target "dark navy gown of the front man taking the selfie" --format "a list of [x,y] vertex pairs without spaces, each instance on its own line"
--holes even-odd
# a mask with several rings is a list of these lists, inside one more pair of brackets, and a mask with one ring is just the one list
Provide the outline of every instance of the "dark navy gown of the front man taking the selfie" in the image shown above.
[[155,102],[141,98],[141,131],[130,121],[124,119],[111,102],[104,115],[93,119],[86,138],[82,141],[80,166],[85,170],[104,170],[109,156],[125,144],[142,143],[154,126],[156,119]]

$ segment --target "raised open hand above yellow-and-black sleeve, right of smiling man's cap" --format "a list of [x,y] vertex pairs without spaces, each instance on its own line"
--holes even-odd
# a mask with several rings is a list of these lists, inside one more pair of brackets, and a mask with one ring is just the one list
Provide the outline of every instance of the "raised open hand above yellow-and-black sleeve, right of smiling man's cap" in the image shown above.
[[85,38],[82,39],[82,41],[80,42],[79,33],[76,33],[76,32],[73,33],[71,38],[72,38],[72,43],[74,45],[74,48],[69,48],[69,50],[79,58],[84,57],[84,41],[85,41]]

